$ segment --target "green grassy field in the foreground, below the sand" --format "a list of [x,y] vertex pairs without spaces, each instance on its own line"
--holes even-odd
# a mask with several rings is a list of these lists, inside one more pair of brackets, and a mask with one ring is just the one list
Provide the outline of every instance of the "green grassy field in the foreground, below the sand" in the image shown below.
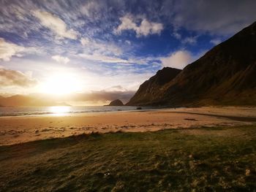
[[0,147],[0,191],[255,191],[256,126]]

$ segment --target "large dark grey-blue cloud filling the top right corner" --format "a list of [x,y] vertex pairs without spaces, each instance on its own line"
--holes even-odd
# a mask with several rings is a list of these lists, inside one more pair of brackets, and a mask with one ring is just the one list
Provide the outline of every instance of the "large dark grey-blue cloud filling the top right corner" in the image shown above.
[[[210,34],[230,35],[256,20],[256,1],[165,1],[162,13],[174,26]],[[206,16],[207,15],[207,16]]]

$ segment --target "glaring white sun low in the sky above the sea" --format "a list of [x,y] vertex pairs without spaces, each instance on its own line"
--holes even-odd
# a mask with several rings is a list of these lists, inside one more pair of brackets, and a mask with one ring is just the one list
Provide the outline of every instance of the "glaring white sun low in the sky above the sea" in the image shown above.
[[42,82],[41,91],[54,95],[64,95],[81,91],[81,80],[75,74],[51,74]]

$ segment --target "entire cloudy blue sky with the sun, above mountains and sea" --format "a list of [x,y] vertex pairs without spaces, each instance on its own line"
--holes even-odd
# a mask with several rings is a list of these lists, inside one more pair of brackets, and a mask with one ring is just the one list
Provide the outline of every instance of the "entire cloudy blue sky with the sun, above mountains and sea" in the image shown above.
[[157,70],[184,69],[255,22],[255,7],[254,0],[0,0],[0,94],[127,101]]

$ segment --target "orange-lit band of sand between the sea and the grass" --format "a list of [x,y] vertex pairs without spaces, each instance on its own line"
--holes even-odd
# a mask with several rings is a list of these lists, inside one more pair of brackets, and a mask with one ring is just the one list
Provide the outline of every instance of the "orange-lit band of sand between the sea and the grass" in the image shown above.
[[201,107],[136,112],[97,112],[0,118],[0,145],[91,132],[157,131],[165,128],[239,126],[255,123],[255,107]]

